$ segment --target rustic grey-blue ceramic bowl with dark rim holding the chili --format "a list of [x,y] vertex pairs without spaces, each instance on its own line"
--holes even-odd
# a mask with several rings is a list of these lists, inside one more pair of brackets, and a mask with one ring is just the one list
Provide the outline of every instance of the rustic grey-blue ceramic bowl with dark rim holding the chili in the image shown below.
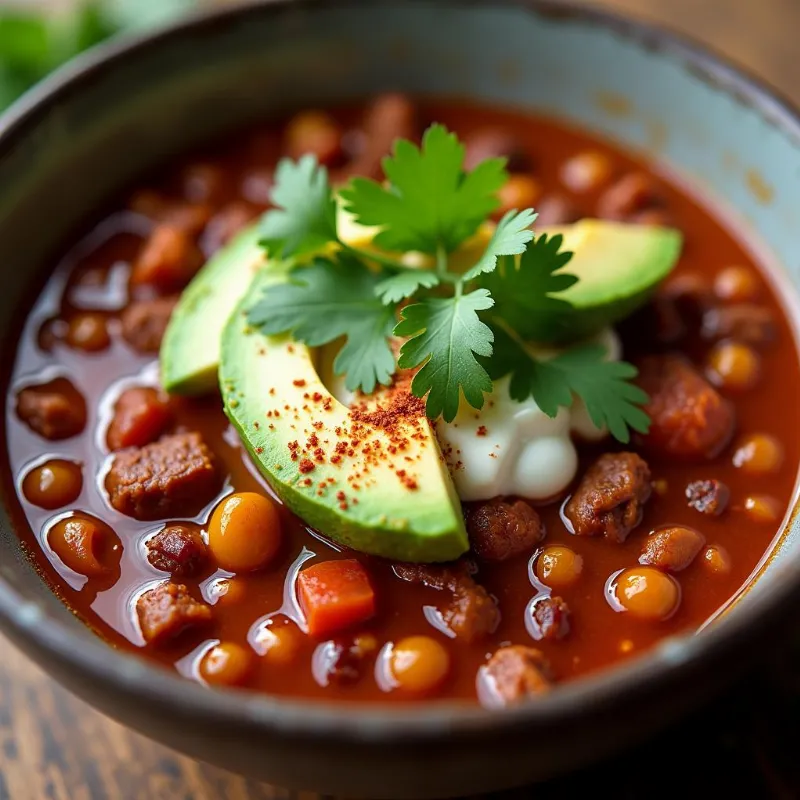
[[[4,369],[59,247],[123,187],[255,118],[386,89],[542,111],[646,152],[748,231],[795,302],[800,118],[703,49],[571,3],[273,0],[101,48],[2,118]],[[599,759],[720,689],[791,618],[799,550],[793,513],[751,588],[701,635],[502,712],[345,707],[181,680],[76,620],[26,559],[7,510],[0,626],[87,702],[190,756],[325,793],[452,796]]]

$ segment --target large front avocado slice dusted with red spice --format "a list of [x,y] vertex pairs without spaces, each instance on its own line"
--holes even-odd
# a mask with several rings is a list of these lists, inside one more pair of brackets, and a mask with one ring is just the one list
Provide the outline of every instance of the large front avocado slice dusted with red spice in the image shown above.
[[259,272],[222,334],[225,412],[254,462],[295,514],[341,544],[402,561],[458,558],[469,548],[461,504],[424,413],[380,427],[356,419],[312,350],[247,324],[264,287],[284,279],[271,265]]

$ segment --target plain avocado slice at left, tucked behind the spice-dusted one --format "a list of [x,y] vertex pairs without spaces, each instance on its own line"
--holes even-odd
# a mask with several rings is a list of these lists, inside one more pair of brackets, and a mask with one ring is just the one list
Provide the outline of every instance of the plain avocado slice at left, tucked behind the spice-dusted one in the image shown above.
[[258,225],[215,253],[181,294],[161,343],[161,381],[172,394],[203,394],[217,386],[222,328],[265,262]]

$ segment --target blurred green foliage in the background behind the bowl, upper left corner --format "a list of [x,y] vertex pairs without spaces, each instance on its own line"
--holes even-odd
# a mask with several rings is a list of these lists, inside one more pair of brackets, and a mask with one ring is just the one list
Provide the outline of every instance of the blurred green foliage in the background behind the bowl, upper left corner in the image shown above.
[[125,30],[169,22],[196,0],[81,0],[72,11],[0,7],[0,110],[78,53]]

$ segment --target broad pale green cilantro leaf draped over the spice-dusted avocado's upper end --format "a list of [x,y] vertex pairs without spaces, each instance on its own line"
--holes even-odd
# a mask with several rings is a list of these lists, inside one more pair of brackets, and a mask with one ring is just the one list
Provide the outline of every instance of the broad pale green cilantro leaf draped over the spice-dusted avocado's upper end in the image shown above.
[[369,394],[379,383],[388,385],[395,371],[389,346],[394,308],[376,297],[380,280],[351,256],[316,258],[292,272],[290,283],[267,287],[248,321],[268,336],[291,333],[309,347],[346,337],[334,372],[346,375],[351,391]]

